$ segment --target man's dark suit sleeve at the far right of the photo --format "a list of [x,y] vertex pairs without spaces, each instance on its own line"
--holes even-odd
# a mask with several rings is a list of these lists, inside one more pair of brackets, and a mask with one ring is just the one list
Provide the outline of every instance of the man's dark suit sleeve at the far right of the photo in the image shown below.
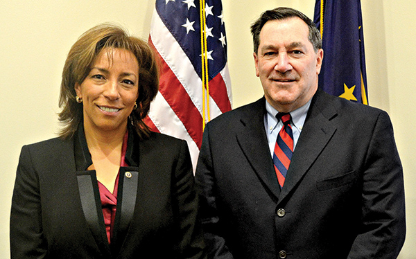
[[384,111],[365,159],[360,229],[348,258],[397,258],[406,235],[403,170]]

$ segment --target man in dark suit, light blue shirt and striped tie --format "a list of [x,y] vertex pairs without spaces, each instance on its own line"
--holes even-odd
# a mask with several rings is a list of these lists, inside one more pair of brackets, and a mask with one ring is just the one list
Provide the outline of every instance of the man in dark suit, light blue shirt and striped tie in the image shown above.
[[388,114],[318,89],[322,43],[301,12],[266,11],[252,34],[264,97],[207,124],[196,169],[210,258],[397,258]]

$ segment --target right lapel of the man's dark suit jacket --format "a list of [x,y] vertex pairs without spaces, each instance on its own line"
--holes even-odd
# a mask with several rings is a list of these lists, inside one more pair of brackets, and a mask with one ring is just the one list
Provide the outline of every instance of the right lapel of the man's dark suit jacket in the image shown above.
[[279,202],[302,180],[336,132],[336,126],[331,123],[331,119],[337,115],[337,112],[330,102],[324,100],[324,95],[325,93],[318,89],[311,102],[302,133],[293,152],[291,166],[281,189]]

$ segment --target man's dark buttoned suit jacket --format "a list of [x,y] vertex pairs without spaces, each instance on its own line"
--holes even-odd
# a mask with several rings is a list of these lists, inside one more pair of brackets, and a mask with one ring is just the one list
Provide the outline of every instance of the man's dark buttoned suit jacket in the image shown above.
[[318,89],[280,190],[265,99],[205,127],[196,170],[209,258],[396,258],[404,184],[385,111]]

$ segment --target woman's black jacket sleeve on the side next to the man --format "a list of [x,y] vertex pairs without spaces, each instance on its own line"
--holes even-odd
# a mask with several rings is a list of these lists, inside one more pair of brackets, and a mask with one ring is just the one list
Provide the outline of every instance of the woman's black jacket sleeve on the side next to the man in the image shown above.
[[180,238],[177,244],[179,258],[206,258],[194,183],[188,145],[186,141],[182,141],[175,168],[175,199],[177,221],[180,224]]

